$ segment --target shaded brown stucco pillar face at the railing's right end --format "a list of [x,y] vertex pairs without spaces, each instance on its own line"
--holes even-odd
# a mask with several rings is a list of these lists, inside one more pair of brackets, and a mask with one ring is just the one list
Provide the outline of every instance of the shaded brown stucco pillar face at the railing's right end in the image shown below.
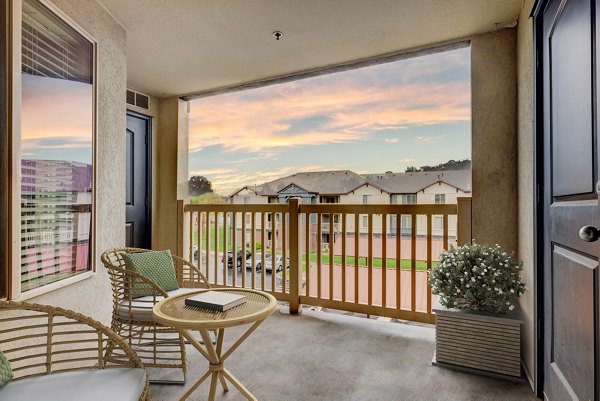
[[516,29],[471,41],[472,238],[517,250]]

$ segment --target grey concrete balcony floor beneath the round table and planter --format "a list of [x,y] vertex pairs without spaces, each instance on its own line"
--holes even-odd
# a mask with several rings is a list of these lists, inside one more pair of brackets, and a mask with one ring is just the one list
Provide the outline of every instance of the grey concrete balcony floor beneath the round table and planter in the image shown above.
[[[227,360],[227,368],[259,399],[296,400],[535,400],[528,384],[431,365],[433,326],[280,306]],[[225,349],[239,328],[228,329]],[[185,386],[152,385],[153,400],[178,400],[207,369],[188,346]],[[245,399],[230,385],[217,400]],[[208,398],[208,381],[189,400]]]

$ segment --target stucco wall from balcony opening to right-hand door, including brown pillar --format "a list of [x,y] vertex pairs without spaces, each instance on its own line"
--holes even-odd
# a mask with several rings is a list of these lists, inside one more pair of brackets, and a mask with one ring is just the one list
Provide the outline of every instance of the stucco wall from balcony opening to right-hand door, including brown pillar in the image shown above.
[[471,101],[473,238],[523,260],[521,352],[535,387],[533,3],[525,1],[517,28],[473,38]]

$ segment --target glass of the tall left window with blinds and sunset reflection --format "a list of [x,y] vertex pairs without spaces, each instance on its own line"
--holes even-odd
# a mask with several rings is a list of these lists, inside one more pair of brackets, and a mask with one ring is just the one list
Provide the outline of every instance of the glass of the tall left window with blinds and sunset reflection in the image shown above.
[[21,292],[92,269],[94,45],[23,1]]

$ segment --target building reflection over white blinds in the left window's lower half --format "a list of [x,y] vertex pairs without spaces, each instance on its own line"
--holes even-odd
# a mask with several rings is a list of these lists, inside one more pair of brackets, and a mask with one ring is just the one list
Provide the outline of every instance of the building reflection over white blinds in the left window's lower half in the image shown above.
[[21,176],[23,288],[89,270],[92,166],[22,160]]

